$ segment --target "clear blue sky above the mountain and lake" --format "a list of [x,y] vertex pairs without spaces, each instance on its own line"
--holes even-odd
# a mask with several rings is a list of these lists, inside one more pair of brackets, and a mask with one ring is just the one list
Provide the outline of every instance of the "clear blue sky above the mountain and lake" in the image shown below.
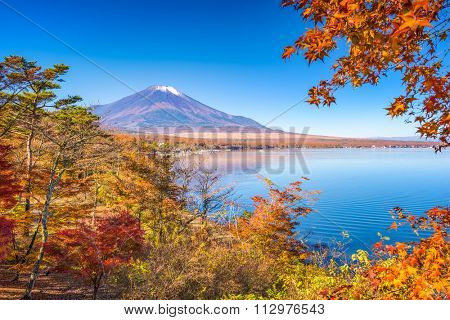
[[[0,54],[23,55],[44,66],[68,64],[61,94],[78,94],[86,104],[109,103],[132,89],[162,84],[266,124],[330,74],[329,61],[308,66],[302,57],[281,60],[283,47],[306,26],[298,13],[279,4],[0,0]],[[383,109],[400,88],[397,75],[377,87],[346,88],[337,94],[337,105],[317,110],[301,103],[270,126],[347,137],[411,136],[413,125],[389,119]]]

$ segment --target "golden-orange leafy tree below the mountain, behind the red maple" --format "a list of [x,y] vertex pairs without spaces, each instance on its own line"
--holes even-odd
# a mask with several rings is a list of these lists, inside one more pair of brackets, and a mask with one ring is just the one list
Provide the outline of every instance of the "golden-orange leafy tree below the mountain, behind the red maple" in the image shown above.
[[178,205],[180,188],[174,160],[170,154],[156,150],[150,141],[117,140],[120,169],[104,180],[100,200],[130,211],[149,239],[164,242],[171,230],[183,229],[192,220]]

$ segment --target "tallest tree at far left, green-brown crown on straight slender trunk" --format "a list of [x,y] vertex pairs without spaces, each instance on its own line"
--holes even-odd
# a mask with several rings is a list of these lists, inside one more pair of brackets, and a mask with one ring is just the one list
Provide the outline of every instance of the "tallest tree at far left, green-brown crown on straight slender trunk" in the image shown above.
[[[34,61],[22,57],[7,57],[3,65],[12,71],[4,77],[1,97],[4,100],[5,112],[0,119],[0,127],[25,144],[25,211],[31,209],[33,192],[33,169],[35,164],[36,135],[39,134],[42,118],[50,111],[73,105],[81,100],[73,96],[59,99],[56,89],[61,87],[62,76],[67,73],[68,66],[56,64],[42,69]],[[14,77],[12,76],[14,75]],[[18,79],[17,81],[10,80]],[[13,84],[9,84],[12,82]],[[19,84],[16,84],[16,83]],[[20,88],[19,89],[17,88]]]

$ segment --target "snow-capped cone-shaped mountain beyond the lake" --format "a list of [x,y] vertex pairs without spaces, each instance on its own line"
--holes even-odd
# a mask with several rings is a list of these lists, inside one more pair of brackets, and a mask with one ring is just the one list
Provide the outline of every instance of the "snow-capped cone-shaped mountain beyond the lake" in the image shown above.
[[105,127],[138,128],[254,128],[258,122],[208,107],[173,87],[151,86],[116,102],[93,106]]

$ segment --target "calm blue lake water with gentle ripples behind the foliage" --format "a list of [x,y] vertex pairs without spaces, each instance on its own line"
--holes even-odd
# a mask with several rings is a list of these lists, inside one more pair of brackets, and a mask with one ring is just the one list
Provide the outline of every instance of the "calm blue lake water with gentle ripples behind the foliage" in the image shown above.
[[[266,195],[261,177],[280,186],[301,176],[305,189],[320,190],[316,212],[302,218],[299,236],[309,243],[348,242],[368,249],[380,232],[391,241],[413,240],[408,228],[389,231],[394,207],[423,214],[450,205],[450,152],[432,149],[303,149],[229,151],[199,156],[224,174],[239,203],[251,209],[253,195]],[[343,237],[348,233],[348,238]]]

